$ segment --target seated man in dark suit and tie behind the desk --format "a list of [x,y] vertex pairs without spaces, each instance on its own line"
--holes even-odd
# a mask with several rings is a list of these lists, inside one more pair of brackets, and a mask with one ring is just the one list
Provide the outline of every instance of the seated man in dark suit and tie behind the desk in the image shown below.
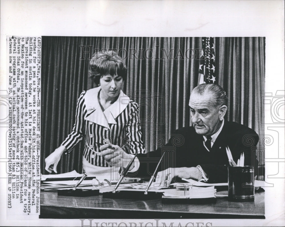
[[[244,165],[254,166],[257,170],[252,148],[256,147],[259,137],[254,130],[224,119],[227,95],[223,88],[217,84],[197,86],[190,95],[189,106],[193,126],[177,129],[162,148],[140,156],[141,174],[142,171],[152,174],[165,152],[156,177],[156,182],[159,180],[161,185],[169,186],[174,178],[227,182],[229,158],[226,147],[231,150],[235,163],[244,153]],[[176,143],[177,135],[182,137],[181,144]]]

